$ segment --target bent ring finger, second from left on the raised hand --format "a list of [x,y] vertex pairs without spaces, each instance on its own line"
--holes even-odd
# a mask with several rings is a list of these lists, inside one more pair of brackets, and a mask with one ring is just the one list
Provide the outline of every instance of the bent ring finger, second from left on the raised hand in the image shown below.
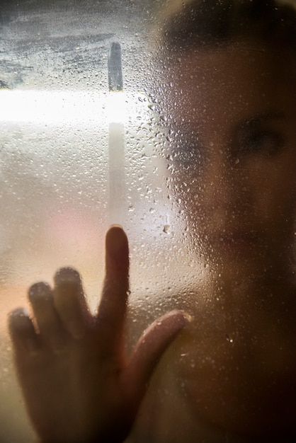
[[65,345],[65,333],[55,310],[52,289],[47,283],[33,284],[28,298],[38,325],[40,338],[54,352],[61,352]]

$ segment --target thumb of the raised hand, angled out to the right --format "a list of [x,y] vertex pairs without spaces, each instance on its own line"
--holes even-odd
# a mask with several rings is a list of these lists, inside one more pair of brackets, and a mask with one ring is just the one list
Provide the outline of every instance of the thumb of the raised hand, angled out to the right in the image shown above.
[[135,401],[142,399],[156,364],[189,321],[188,314],[171,311],[147,328],[138,341],[125,372],[124,386],[129,390],[130,398]]

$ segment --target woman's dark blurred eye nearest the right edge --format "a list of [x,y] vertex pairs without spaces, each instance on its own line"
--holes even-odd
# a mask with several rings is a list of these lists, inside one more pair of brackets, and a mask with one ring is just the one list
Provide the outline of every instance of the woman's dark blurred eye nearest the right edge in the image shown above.
[[242,137],[239,141],[239,153],[274,156],[283,150],[284,142],[283,135],[278,132],[258,131]]

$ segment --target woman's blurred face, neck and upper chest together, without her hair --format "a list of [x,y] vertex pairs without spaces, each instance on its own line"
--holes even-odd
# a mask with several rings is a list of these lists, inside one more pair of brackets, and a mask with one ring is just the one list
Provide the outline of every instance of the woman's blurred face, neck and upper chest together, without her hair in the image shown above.
[[[193,248],[211,271],[198,322],[178,342],[185,357],[176,371],[195,416],[246,434],[289,430],[296,419],[295,83],[280,75],[275,54],[247,42],[185,52],[167,72],[171,182]],[[185,306],[190,311],[190,301]]]

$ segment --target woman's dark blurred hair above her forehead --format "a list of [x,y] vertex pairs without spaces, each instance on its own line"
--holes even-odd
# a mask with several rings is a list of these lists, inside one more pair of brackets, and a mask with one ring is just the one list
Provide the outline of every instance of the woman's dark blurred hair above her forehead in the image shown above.
[[[152,29],[150,97],[161,113],[165,76],[186,52],[254,42],[275,54],[280,76],[295,87],[296,0],[166,0]],[[158,78],[164,84],[157,84]]]

